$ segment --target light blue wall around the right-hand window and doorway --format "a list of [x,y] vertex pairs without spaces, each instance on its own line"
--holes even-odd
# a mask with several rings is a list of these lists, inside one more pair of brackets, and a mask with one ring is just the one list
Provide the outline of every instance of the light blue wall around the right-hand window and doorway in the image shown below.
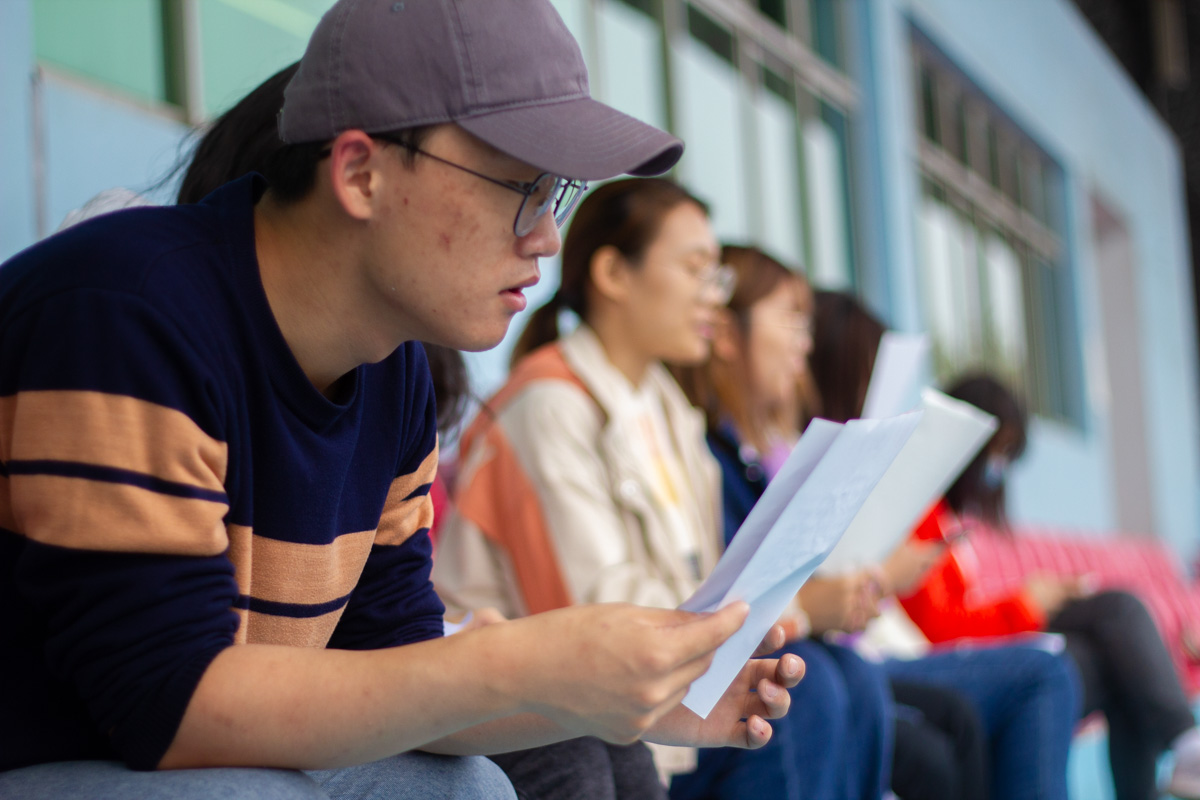
[[1115,527],[1105,417],[1104,319],[1093,267],[1091,197],[1114,203],[1132,234],[1145,428],[1157,533],[1190,559],[1200,537],[1196,333],[1175,142],[1067,0],[872,0],[856,4],[854,43],[869,130],[859,192],[869,224],[871,305],[920,327],[916,287],[916,126],[908,34],[917,25],[1066,174],[1067,246],[1084,360],[1081,426],[1036,420],[1012,483],[1018,521],[1092,531]]

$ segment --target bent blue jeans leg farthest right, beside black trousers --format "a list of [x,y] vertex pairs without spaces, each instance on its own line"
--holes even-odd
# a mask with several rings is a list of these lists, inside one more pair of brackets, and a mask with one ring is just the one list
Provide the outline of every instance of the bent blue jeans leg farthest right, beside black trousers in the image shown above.
[[976,704],[991,754],[991,796],[1067,800],[1080,688],[1063,655],[1032,646],[961,649],[883,663],[890,678],[948,686]]

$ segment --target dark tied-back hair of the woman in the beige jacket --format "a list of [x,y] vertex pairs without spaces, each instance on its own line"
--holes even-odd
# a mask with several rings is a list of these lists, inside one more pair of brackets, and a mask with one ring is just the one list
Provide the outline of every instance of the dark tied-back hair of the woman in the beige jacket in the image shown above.
[[636,263],[659,233],[664,217],[680,203],[708,206],[665,178],[629,178],[612,181],[583,198],[563,240],[563,273],[558,291],[526,323],[512,348],[510,366],[558,338],[558,314],[564,309],[588,319],[588,279],[592,257],[601,247],[616,247]]

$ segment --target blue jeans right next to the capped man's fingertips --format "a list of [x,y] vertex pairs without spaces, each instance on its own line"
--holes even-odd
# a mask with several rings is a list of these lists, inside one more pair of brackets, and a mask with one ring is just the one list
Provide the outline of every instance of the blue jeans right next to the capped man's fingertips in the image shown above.
[[[792,709],[760,750],[701,750],[695,772],[671,781],[671,800],[877,800],[892,763],[892,694],[877,664],[851,650],[802,639],[781,652],[804,658]],[[780,654],[775,654],[776,656]]]

